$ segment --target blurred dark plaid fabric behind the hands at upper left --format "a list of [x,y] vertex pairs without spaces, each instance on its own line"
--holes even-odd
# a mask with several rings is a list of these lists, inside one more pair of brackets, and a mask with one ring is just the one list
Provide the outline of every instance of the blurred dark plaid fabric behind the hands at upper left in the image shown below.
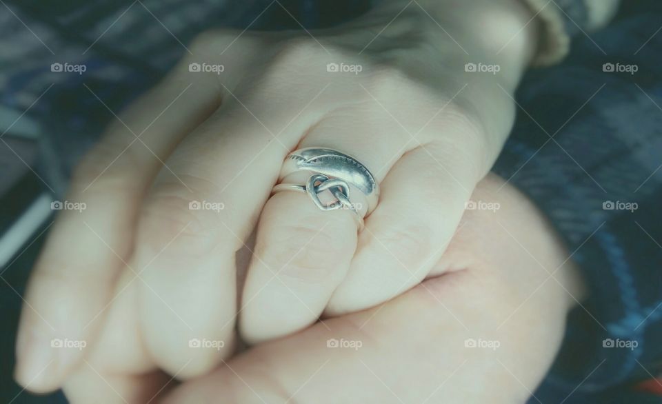
[[[112,119],[86,85],[119,111],[163,77],[204,30],[325,27],[368,8],[368,1],[349,0],[4,3],[0,103],[22,113],[43,96],[27,115],[45,128],[43,174],[56,192],[66,190],[73,165]],[[85,65],[86,71],[52,72],[52,63]]]

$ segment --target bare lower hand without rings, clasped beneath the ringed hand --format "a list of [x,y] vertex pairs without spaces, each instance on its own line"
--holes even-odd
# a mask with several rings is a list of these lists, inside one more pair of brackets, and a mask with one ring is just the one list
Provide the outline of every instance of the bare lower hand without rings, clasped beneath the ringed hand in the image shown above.
[[[583,292],[548,223],[501,185],[495,176],[479,183],[472,200],[496,210],[468,210],[433,275],[417,287],[254,347],[164,402],[524,403]],[[117,397],[88,373],[68,383],[68,396],[80,398],[73,403]],[[145,403],[167,381],[139,380],[110,383],[128,402]]]

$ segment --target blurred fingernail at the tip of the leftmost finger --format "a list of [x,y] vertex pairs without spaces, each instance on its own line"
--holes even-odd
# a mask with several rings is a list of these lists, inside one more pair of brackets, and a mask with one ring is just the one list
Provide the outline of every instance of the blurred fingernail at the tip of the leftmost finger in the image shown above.
[[41,390],[39,387],[48,381],[49,370],[54,368],[52,362],[55,356],[50,339],[32,330],[21,332],[17,340],[16,354],[16,381],[23,387]]

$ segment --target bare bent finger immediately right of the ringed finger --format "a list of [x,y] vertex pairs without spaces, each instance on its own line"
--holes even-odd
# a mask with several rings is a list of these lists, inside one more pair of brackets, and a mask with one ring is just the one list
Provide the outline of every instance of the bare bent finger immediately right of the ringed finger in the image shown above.
[[408,152],[394,165],[326,314],[372,307],[425,279],[450,242],[474,187],[474,170],[465,170],[462,159],[448,145],[432,144]]

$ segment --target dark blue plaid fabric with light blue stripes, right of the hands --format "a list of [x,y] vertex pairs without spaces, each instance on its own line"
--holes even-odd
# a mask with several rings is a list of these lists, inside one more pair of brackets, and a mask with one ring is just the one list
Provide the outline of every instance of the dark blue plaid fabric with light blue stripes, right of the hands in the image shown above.
[[661,17],[654,1],[630,5],[528,74],[494,168],[549,216],[589,289],[538,393],[550,402],[642,403],[627,386],[662,369]]

